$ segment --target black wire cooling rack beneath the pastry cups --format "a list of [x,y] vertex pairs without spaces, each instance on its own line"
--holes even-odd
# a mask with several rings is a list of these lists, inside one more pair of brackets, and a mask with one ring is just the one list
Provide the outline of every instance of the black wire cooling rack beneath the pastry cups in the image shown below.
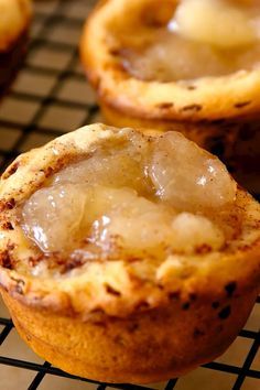
[[[34,22],[26,61],[12,89],[0,106],[0,171],[19,153],[99,119],[95,96],[78,64],[77,46],[83,23],[94,3],[94,0],[35,1]],[[253,310],[254,313],[258,313],[254,315],[256,318],[260,318],[259,304],[260,299],[257,300]],[[13,331],[13,323],[8,318],[8,315],[0,316],[1,348]],[[13,366],[21,370],[35,372],[29,386],[24,387],[29,390],[41,389],[42,383],[50,376],[74,380],[74,384],[69,389],[79,389],[76,384],[79,382],[82,383],[80,389],[98,390],[260,389],[259,329],[256,326],[253,329],[246,326],[240,332],[238,339],[247,342],[248,346],[239,361],[230,359],[227,354],[226,360],[218,359],[204,365],[198,369],[201,370],[199,375],[192,373],[189,379],[187,376],[150,387],[130,383],[99,383],[63,372],[52,367],[47,361],[39,364],[10,357],[8,354],[4,356],[2,353],[0,353],[0,365],[2,365],[0,368]],[[234,355],[236,355],[236,350]],[[194,372],[198,372],[198,370]],[[218,378],[221,378],[221,381],[218,382]],[[1,387],[1,382],[0,388],[6,390]],[[45,388],[59,390],[59,387]],[[9,387],[9,389],[17,389],[17,386]],[[61,389],[63,389],[62,386]]]

